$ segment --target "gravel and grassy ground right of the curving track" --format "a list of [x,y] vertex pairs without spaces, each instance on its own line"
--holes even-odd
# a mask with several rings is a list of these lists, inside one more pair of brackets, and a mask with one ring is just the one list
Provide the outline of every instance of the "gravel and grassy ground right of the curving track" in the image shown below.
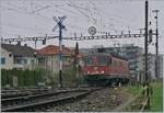
[[[163,84],[151,83],[153,95],[151,108],[147,112],[162,112],[163,110]],[[57,90],[57,89],[56,89]],[[136,97],[142,92],[142,86],[125,86],[119,88],[102,88],[93,91],[82,99],[59,104],[47,104],[42,112],[139,112],[142,98]],[[132,101],[132,102],[131,102]]]

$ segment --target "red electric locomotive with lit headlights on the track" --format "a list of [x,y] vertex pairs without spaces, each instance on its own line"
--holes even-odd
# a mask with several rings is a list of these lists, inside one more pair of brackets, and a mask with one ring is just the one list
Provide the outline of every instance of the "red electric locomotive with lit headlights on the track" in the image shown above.
[[107,53],[93,53],[89,54],[84,60],[82,71],[90,86],[118,84],[129,81],[129,66],[124,58]]

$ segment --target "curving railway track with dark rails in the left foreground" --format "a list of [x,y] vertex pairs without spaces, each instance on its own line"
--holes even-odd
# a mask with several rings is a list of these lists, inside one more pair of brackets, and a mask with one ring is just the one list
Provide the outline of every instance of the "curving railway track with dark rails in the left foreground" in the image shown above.
[[98,90],[96,89],[73,89],[73,90],[61,90],[61,91],[51,91],[34,95],[24,95],[16,98],[8,98],[1,100],[2,112],[24,112],[24,111],[37,111],[46,110],[51,105],[61,104],[65,102],[74,101],[81,99],[86,94]]

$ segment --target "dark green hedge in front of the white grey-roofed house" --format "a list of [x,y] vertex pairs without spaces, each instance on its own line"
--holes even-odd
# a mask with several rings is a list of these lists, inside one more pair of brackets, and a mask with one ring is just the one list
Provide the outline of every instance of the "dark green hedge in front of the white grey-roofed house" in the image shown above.
[[17,87],[34,87],[37,82],[45,81],[45,72],[42,69],[37,70],[5,70],[1,69],[1,86],[10,84],[13,87],[13,76],[17,77]]

